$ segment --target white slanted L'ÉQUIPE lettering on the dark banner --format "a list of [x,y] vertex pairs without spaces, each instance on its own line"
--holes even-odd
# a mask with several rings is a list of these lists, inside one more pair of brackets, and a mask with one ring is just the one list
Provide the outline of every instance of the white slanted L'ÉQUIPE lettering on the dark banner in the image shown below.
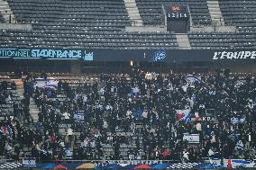
[[213,57],[214,60],[217,59],[255,59],[256,51],[236,51],[236,52],[215,52]]

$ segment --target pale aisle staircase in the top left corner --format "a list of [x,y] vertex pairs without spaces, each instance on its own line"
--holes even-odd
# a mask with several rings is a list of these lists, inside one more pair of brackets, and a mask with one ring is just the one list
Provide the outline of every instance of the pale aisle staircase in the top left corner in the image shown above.
[[[0,0],[0,12],[4,15],[5,22],[12,22],[12,23],[16,22],[14,13],[7,1]],[[10,17],[11,17],[11,21],[10,21]]]

